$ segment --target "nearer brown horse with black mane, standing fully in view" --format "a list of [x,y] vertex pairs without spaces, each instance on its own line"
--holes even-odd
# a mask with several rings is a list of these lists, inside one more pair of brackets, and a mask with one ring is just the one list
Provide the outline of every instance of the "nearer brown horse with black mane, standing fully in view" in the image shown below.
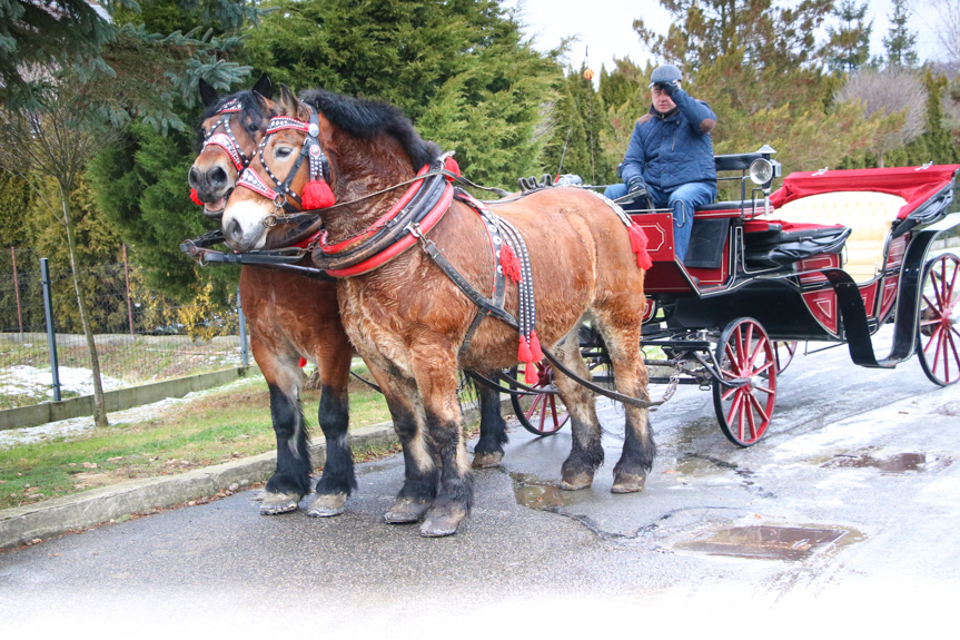
[[[304,102],[281,86],[280,112],[288,119],[261,140],[238,185],[248,188],[238,188],[224,211],[224,233],[235,249],[265,246],[269,225],[284,220],[284,206],[293,201],[291,196],[303,194],[308,179],[319,181],[314,165],[297,160],[301,149],[313,146],[308,134],[328,165],[320,177],[326,177],[339,203],[319,214],[326,246],[364,237],[397,199],[392,187],[414,178],[417,169],[439,155],[388,105],[326,91],[308,91]],[[294,126],[283,126],[290,122]],[[578,188],[536,191],[496,207],[496,213],[530,247],[536,331],[543,344],[555,349],[567,367],[588,377],[577,332],[584,318],[592,318],[608,349],[618,392],[645,400],[647,375],[640,355],[644,272],[637,267],[623,218],[597,194]],[[479,291],[493,286],[496,267],[486,228],[473,209],[454,200],[427,234]],[[424,518],[422,534],[455,533],[473,501],[456,372],[515,364],[517,333],[497,319],[484,318],[469,348],[458,357],[476,307],[419,247],[338,284],[347,335],[376,365],[375,376],[390,401],[404,447],[405,482],[386,520]],[[516,314],[518,295],[514,287],[508,289],[505,308]],[[573,449],[563,463],[561,486],[582,489],[592,483],[603,462],[594,397],[566,376],[557,375],[556,383],[573,424]],[[625,414],[614,492],[640,491],[655,453],[647,411],[625,405]]]

